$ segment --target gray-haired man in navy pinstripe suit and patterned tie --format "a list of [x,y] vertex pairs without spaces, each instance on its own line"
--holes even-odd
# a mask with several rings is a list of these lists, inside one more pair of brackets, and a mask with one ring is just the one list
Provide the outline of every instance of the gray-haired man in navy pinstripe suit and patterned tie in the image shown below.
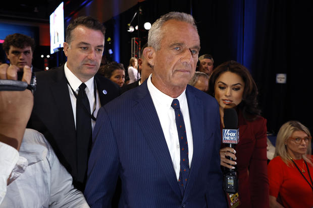
[[[219,107],[213,97],[187,85],[199,50],[192,16],[172,12],[153,23],[143,52],[152,75],[99,110],[85,189],[91,207],[111,206],[118,177],[119,207],[227,206]],[[185,143],[178,138],[173,100],[179,102]],[[183,184],[184,144],[189,174]]]

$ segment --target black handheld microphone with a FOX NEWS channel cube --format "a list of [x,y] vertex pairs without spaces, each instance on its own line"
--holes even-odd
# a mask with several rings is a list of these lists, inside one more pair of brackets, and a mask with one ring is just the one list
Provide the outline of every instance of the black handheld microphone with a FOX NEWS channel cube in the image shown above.
[[[222,142],[228,144],[228,147],[234,148],[239,143],[238,115],[234,108],[224,109],[224,126]],[[231,157],[227,157],[227,159],[232,160]],[[238,178],[234,169],[228,168],[224,174],[223,188],[228,193],[237,192]]]

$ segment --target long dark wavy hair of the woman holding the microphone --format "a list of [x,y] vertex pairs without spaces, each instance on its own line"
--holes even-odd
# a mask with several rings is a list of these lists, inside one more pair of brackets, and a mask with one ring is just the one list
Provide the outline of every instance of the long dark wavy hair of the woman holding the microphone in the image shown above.
[[256,84],[247,68],[236,61],[226,61],[214,69],[208,82],[207,93],[214,97],[215,82],[224,72],[235,73],[240,76],[244,82],[242,101],[237,106],[237,109],[242,111],[244,118],[251,120],[254,119],[256,115],[260,115],[261,111],[257,103],[258,91]]

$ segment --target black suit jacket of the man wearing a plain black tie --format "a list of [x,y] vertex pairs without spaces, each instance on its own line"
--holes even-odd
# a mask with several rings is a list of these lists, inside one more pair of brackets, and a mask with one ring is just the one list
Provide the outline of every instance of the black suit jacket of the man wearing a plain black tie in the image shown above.
[[[77,181],[76,128],[64,65],[36,73],[34,107],[28,127],[41,132],[56,152],[60,162],[73,176],[74,185],[84,189],[85,181]],[[101,106],[120,95],[120,88],[109,79],[94,76]],[[106,90],[107,94],[103,91]]]

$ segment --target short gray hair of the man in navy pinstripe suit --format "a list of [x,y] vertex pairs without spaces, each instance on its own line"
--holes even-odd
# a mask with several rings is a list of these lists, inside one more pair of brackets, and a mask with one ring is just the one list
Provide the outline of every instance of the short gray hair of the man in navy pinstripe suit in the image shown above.
[[161,48],[161,40],[164,37],[164,31],[162,30],[162,26],[165,22],[169,20],[177,20],[181,22],[186,22],[194,26],[197,30],[197,26],[195,25],[195,21],[193,17],[189,14],[182,13],[182,12],[170,12],[161,16],[158,20],[156,20],[148,34],[148,46],[154,48],[155,50],[160,50]]

